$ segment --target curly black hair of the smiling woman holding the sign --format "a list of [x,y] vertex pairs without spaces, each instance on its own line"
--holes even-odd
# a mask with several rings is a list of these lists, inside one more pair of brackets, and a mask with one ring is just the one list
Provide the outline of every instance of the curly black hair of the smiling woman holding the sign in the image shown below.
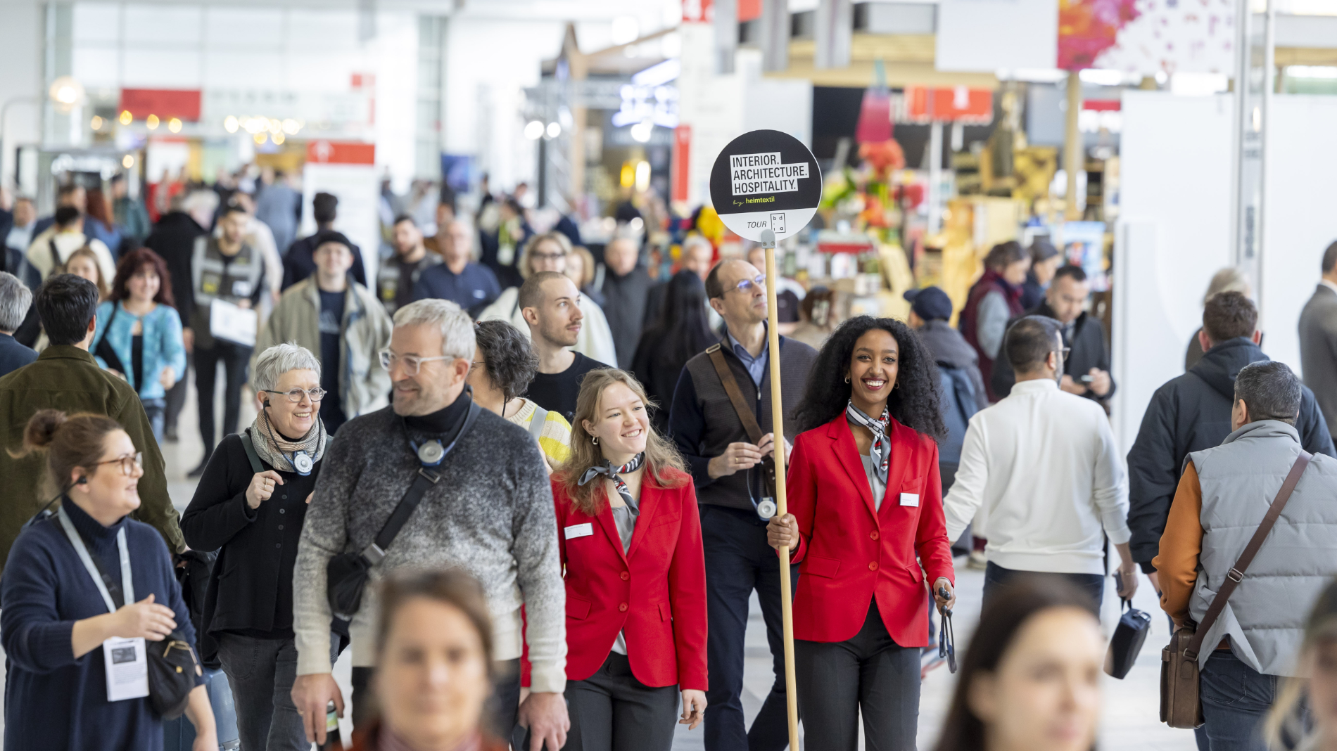
[[798,429],[820,428],[845,412],[850,393],[845,374],[849,373],[854,342],[870,329],[882,329],[900,345],[897,388],[886,401],[888,412],[901,425],[943,440],[947,436],[947,425],[943,424],[943,386],[933,353],[905,323],[872,315],[857,315],[841,323],[817,353],[804,398],[794,410]]

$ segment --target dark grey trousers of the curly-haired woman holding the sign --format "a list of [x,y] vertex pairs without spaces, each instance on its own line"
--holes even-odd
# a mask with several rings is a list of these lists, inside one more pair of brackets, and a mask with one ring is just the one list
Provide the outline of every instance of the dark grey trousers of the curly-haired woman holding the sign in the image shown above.
[[920,651],[892,640],[876,600],[864,627],[848,641],[796,639],[794,673],[798,711],[810,747],[856,751],[862,708],[864,748],[915,751]]

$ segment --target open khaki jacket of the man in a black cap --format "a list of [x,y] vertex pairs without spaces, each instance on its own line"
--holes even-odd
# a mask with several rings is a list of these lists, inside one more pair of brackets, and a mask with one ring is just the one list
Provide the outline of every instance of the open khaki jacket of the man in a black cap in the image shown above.
[[[380,353],[390,343],[393,323],[376,297],[349,279],[344,293],[344,321],[340,325],[338,398],[349,420],[376,412],[389,404],[390,374],[378,362]],[[266,349],[294,342],[321,355],[321,295],[316,275],[287,287],[269,321],[259,329],[255,359]],[[322,363],[324,365],[324,363]]]

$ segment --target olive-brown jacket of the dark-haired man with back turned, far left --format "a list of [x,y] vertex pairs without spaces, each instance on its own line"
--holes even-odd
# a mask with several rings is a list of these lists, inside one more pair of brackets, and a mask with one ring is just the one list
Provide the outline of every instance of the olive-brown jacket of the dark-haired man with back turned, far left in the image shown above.
[[[39,409],[59,409],[68,414],[92,412],[115,420],[130,434],[135,449],[144,454],[144,476],[139,478],[139,510],[131,516],[152,525],[167,540],[167,548],[180,551],[179,516],[167,494],[163,454],[148,426],[148,417],[135,390],[98,367],[86,350],[76,346],[49,346],[31,365],[0,378],[0,444],[17,450],[23,429]],[[115,465],[100,472],[120,472]],[[0,567],[19,537],[23,522],[37,513],[59,488],[47,480],[44,454],[13,458],[0,450]]]

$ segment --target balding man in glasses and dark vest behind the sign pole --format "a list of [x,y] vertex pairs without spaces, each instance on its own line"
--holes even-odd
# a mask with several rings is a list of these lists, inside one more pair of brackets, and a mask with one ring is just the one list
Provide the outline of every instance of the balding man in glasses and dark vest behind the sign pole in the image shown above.
[[[785,724],[785,659],[779,616],[779,559],[766,544],[766,521],[775,513],[763,457],[775,450],[771,433],[770,351],[766,330],[766,278],[741,259],[719,262],[706,275],[710,307],[725,319],[718,345],[687,361],[668,413],[668,429],[687,460],[701,504],[706,552],[706,604],[710,637],[706,691],[706,751],[781,751],[789,743]],[[808,384],[817,350],[779,337],[783,434],[789,444],[797,425],[793,410]],[[734,410],[715,359],[737,384],[762,436],[753,442]],[[753,589],[766,620],[766,640],[775,682],[747,731],[743,688],[743,636]]]

